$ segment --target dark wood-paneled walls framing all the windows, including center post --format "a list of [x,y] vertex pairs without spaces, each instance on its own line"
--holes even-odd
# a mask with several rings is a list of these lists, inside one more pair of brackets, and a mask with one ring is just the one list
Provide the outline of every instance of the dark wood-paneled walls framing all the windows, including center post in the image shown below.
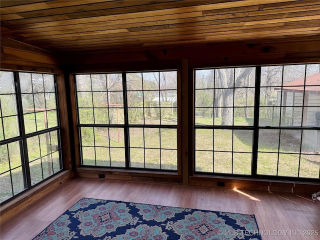
[[[107,179],[127,179],[139,181],[158,181],[183,183],[196,186],[217,186],[218,181],[224,181],[225,187],[238,189],[272,190],[285,192],[305,192],[318,188],[318,183],[280,182],[268,180],[252,180],[237,178],[212,178],[203,175],[193,175],[192,170],[192,103],[193,68],[214,66],[240,66],[260,64],[289,64],[320,62],[320,36],[305,38],[286,38],[273,40],[259,40],[249,42],[226,42],[213,45],[193,45],[189,47],[120,49],[86,52],[71,55],[53,55],[52,53],[23,44],[14,40],[1,38],[1,69],[36,71],[57,73],[58,96],[61,116],[62,147],[65,169],[71,169],[71,161],[79,167],[79,156],[75,151],[75,159],[71,159],[69,127],[75,135],[75,149],[77,148],[75,99],[72,73],[132,71],[132,70],[162,70],[178,69],[181,77],[181,161],[182,168],[179,174],[165,174],[157,172],[132,172],[126,170],[106,170],[80,167],[68,171],[65,180],[75,173],[78,177],[97,178],[98,173],[105,173]],[[64,74],[63,74],[64,73]],[[66,76],[66,77],[65,77]],[[69,102],[69,103],[68,103]],[[72,109],[70,109],[72,106]],[[71,111],[71,113],[70,113]],[[68,121],[67,115],[72,119]],[[71,122],[72,125],[69,125]],[[33,201],[45,192],[57,187],[58,179],[48,182],[41,191],[33,193],[33,197],[25,196],[19,200],[19,206],[7,208],[7,214],[15,214],[14,209],[25,207],[25,200]],[[46,189],[46,190],[45,190]],[[2,214],[2,210],[1,210]],[[1,216],[2,217],[2,216]]]

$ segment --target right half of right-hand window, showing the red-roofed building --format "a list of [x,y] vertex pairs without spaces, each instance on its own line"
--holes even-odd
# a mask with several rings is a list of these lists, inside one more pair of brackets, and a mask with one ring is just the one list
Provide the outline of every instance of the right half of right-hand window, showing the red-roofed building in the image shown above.
[[319,177],[319,67],[261,67],[257,174]]

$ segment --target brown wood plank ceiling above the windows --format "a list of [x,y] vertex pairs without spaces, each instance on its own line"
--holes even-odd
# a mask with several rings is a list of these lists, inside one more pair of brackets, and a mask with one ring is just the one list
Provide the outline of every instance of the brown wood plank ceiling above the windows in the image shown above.
[[52,52],[320,34],[318,0],[1,0],[1,36]]

